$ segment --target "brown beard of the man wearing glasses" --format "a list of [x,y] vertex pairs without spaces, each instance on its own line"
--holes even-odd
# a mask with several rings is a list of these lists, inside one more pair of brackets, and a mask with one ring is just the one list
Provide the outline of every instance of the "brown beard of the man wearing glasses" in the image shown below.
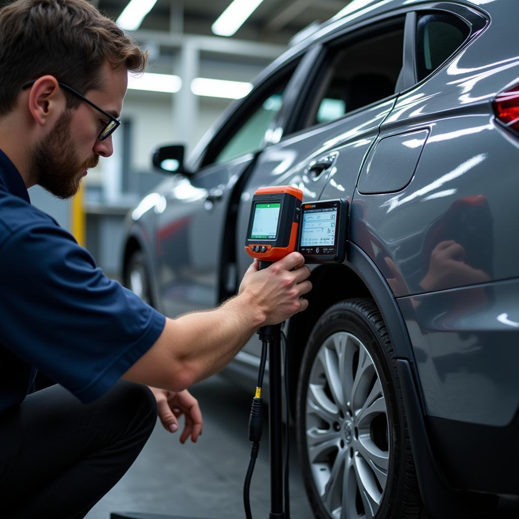
[[70,135],[71,120],[71,111],[65,110],[52,131],[36,145],[31,157],[35,183],[63,200],[78,192],[83,170],[95,168],[99,162],[99,155],[80,161]]

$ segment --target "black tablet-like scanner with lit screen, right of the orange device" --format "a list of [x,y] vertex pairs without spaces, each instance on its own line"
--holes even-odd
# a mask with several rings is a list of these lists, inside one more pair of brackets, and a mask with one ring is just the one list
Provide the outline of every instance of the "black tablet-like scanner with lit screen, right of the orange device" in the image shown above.
[[305,263],[343,263],[346,257],[348,201],[305,202],[301,206],[298,248]]

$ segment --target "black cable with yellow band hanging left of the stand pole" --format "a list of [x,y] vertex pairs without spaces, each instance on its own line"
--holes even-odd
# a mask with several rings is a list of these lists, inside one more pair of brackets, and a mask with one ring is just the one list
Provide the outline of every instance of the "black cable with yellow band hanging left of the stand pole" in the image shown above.
[[265,376],[265,365],[267,363],[268,340],[264,340],[261,350],[260,369],[258,370],[258,380],[256,386],[256,395],[252,399],[251,414],[249,417],[249,440],[252,442],[251,459],[249,461],[249,468],[245,481],[243,483],[243,506],[245,508],[245,517],[252,519],[251,512],[251,481],[254,466],[256,465],[256,458],[260,452],[260,440],[263,432],[263,398],[261,397],[261,390],[263,386],[263,378]]

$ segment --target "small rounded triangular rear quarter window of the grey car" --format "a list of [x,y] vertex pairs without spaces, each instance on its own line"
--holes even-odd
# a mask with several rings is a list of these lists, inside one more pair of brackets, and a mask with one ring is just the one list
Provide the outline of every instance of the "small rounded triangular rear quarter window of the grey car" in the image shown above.
[[438,69],[465,42],[469,27],[449,13],[427,13],[418,18],[416,59],[418,81]]

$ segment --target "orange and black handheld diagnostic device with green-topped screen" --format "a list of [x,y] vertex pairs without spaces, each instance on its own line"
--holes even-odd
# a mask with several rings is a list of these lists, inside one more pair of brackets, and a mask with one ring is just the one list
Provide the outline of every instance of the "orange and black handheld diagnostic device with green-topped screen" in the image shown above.
[[303,192],[293,186],[256,191],[245,240],[249,256],[275,262],[296,250],[302,200]]

